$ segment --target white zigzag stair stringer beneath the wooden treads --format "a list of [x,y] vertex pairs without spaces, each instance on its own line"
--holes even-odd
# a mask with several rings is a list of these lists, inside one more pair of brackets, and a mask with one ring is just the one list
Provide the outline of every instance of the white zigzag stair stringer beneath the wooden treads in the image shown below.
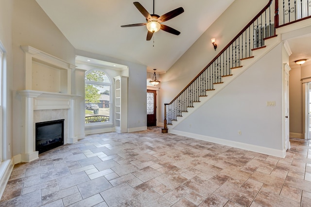
[[200,96],[200,102],[193,102],[193,107],[188,107],[188,112],[182,112],[182,116],[177,117],[177,121],[172,121],[172,125],[168,125],[168,132],[173,130],[179,123],[185,120],[191,113],[198,110],[201,106],[203,106],[208,100],[218,94],[221,90],[223,90],[230,82],[238,78],[244,71],[250,68],[253,64],[255,64],[261,57],[266,55],[269,51],[275,48],[279,43],[281,43],[281,35],[275,36],[273,38],[269,38],[265,40],[265,47],[259,48],[252,51],[252,55],[254,58],[244,59],[241,61],[241,66],[235,69],[231,69],[232,76],[223,77],[222,81],[224,83],[214,84],[213,91],[207,91],[207,96]]

